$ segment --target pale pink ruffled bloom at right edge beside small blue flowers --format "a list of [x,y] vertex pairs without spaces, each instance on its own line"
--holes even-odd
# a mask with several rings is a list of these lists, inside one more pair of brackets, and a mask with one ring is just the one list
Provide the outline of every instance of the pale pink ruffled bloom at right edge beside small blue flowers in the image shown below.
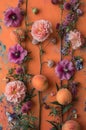
[[72,48],[75,50],[83,44],[83,37],[81,33],[77,30],[70,31],[68,34],[68,40],[72,44]]

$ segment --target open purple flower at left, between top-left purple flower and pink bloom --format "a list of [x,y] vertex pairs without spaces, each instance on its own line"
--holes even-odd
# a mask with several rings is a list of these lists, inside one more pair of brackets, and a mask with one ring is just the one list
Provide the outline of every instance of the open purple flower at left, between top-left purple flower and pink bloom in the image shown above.
[[25,56],[27,56],[27,50],[23,49],[20,44],[9,48],[8,59],[10,62],[21,64]]

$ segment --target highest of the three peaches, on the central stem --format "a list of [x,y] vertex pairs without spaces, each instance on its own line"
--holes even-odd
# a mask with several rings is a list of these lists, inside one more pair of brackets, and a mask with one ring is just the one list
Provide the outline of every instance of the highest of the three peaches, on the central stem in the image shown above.
[[35,75],[32,78],[32,85],[38,91],[45,91],[48,88],[48,80],[44,75]]

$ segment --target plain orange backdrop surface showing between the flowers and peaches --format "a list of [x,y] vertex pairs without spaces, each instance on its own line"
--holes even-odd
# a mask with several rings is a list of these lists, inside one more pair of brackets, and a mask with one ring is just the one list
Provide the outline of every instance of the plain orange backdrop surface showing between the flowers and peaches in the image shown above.
[[[58,6],[52,5],[50,0],[28,0],[28,16],[29,16],[29,22],[33,22],[38,19],[46,19],[51,21],[53,30],[54,30],[54,36],[56,36],[55,32],[55,25],[56,23],[60,22],[61,18],[61,10]],[[17,5],[17,0],[0,0],[0,19],[3,19],[3,12],[6,10],[8,7],[12,6],[15,7]],[[86,0],[83,0],[84,4],[82,6],[83,11],[85,14],[79,19],[77,23],[77,28],[86,36]],[[32,8],[37,7],[40,12],[37,15],[34,15],[32,13]],[[65,11],[63,14],[63,18],[68,12]],[[14,28],[7,28],[4,26],[3,23],[0,23],[2,26],[2,33],[0,34],[0,41],[3,42],[3,44],[6,45],[7,50],[8,48],[15,44],[15,40],[10,37],[10,32]],[[24,23],[22,24],[22,27],[24,27]],[[48,46],[47,43],[49,41],[46,41],[43,43],[43,48],[46,51],[46,54],[43,56],[42,60],[47,61],[48,59],[52,59],[55,62],[58,62],[60,60],[61,54],[59,52],[60,49],[60,42],[58,40],[57,45],[49,44]],[[32,43],[29,41],[26,43],[27,49],[32,51],[32,57],[33,60],[28,64],[28,71],[32,74],[39,74],[39,69],[40,69],[40,62],[39,62],[39,49],[37,46],[32,45]],[[45,47],[46,46],[46,47]],[[34,51],[35,50],[35,51]],[[84,58],[84,66],[86,67],[86,51],[82,50],[77,50],[75,52],[75,55],[80,55]],[[65,57],[66,58],[66,57]],[[69,57],[70,58],[70,57]],[[7,66],[9,67],[10,64],[4,64],[2,61],[0,61],[2,66],[2,70],[0,72],[0,93],[4,92],[5,88],[5,82],[4,78],[7,73]],[[85,69],[86,70],[86,69]],[[55,100],[55,97],[51,97],[50,93],[52,91],[56,91],[55,88],[55,82],[60,84],[60,80],[58,77],[56,77],[54,68],[48,68],[47,64],[43,65],[42,69],[42,74],[47,76],[50,84],[50,88],[42,94],[42,97],[45,95],[48,95],[47,102],[50,102],[51,100]],[[82,130],[86,130],[86,112],[84,111],[84,103],[86,101],[86,72],[84,70],[81,70],[75,74],[75,80],[79,81],[81,83],[78,91],[78,102],[74,106],[74,108],[77,109],[78,111],[78,121],[81,124]],[[34,114],[38,115],[38,97],[36,96],[34,99]],[[3,130],[6,130],[6,125],[7,125],[7,120],[4,115],[4,109],[1,107],[0,109],[0,124],[4,126]],[[49,111],[45,110],[44,108],[42,109],[42,126],[41,130],[49,130],[51,127],[50,124],[47,123],[46,120],[49,119]]]

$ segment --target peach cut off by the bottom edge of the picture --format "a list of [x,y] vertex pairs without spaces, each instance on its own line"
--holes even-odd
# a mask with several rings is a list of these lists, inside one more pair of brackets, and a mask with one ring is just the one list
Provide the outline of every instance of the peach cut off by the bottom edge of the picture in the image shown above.
[[64,123],[62,130],[81,130],[80,124],[77,121],[69,120]]

